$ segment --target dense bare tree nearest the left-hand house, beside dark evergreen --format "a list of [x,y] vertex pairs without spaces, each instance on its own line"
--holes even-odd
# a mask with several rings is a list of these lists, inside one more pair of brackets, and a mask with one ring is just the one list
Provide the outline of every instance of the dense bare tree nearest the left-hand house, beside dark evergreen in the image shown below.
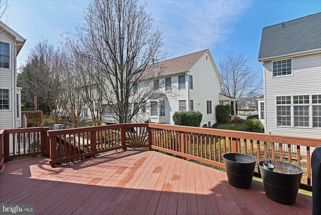
[[26,66],[20,68],[18,84],[23,87],[22,102],[33,110],[34,96],[39,109],[60,121],[61,52],[47,40],[39,41],[29,53]]

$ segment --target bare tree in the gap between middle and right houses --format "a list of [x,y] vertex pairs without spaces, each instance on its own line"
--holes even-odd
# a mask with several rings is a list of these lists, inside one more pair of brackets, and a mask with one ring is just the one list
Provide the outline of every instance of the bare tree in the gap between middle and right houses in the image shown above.
[[223,81],[222,93],[238,99],[239,107],[247,98],[261,93],[262,78],[248,65],[248,58],[245,58],[243,54],[228,53],[218,65]]

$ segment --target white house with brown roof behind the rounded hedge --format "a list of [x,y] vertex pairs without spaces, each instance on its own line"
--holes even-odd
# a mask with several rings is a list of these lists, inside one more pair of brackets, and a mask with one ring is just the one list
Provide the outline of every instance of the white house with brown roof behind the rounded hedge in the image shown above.
[[155,77],[153,84],[158,92],[151,97],[139,116],[149,122],[174,125],[173,115],[177,111],[199,111],[203,115],[201,127],[211,127],[217,122],[216,105],[232,104],[234,98],[221,94],[222,80],[209,49],[158,62],[164,68],[162,75]]

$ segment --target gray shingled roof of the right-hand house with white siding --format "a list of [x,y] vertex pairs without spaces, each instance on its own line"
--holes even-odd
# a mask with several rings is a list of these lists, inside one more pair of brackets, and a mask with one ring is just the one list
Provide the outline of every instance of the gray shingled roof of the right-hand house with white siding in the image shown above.
[[258,60],[321,48],[321,13],[265,27]]

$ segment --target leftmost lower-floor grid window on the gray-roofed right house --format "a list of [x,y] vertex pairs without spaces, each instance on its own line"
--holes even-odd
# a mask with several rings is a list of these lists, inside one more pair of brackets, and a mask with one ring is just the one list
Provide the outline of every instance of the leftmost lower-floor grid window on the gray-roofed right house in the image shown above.
[[291,96],[276,97],[276,121],[277,126],[291,126]]

